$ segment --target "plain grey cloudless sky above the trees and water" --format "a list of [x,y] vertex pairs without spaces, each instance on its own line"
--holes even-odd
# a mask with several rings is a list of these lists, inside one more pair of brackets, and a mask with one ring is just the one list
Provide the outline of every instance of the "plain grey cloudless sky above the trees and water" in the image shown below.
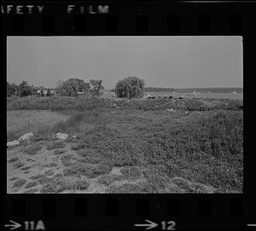
[[242,87],[240,36],[8,37],[7,81],[143,78],[146,87]]

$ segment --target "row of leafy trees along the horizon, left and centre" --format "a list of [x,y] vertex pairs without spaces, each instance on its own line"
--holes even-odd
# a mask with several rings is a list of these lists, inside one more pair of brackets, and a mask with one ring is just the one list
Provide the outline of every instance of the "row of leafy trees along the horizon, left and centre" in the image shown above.
[[[102,80],[90,79],[90,82],[84,82],[80,78],[69,78],[67,81],[58,81],[56,84],[55,94],[77,96],[79,93],[84,95],[102,95],[104,89]],[[120,98],[140,98],[143,97],[144,81],[142,78],[127,77],[119,80],[115,84],[114,90],[112,90],[117,97]],[[40,93],[38,91],[40,90]],[[52,95],[50,89],[47,89],[47,93],[44,95],[44,87],[36,87],[29,85],[26,81],[22,81],[20,84],[9,84],[7,82],[7,96],[50,96]]]

